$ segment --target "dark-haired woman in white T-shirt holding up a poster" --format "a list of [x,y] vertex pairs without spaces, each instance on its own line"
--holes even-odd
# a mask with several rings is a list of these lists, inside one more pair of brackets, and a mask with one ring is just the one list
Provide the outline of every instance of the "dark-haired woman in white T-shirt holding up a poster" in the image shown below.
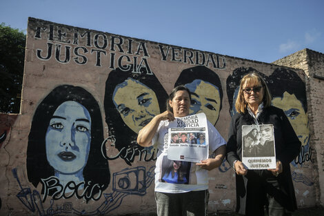
[[[190,116],[190,99],[190,90],[188,88],[185,86],[174,88],[168,99],[167,110],[156,115],[139,132],[137,137],[139,145],[143,147],[156,145],[159,149],[156,159],[154,189],[157,215],[159,216],[206,215],[208,170],[219,167],[224,159],[225,140],[210,121],[201,119],[201,121],[205,121],[205,124],[207,124],[208,142],[205,143],[204,147],[206,147],[206,150],[210,150],[211,155],[214,155],[214,157],[201,158],[201,161],[198,163],[186,161],[188,166],[190,166],[190,176],[187,178],[188,184],[185,182],[181,184],[172,181],[168,182],[161,179],[165,176],[163,170],[168,169],[168,167],[163,167],[165,165],[163,164],[163,158],[168,157],[170,153],[168,130],[181,127],[179,127],[179,124],[176,124],[179,120],[177,118]],[[181,153],[179,153],[178,158],[181,159]],[[179,166],[179,164],[174,165]],[[196,179],[196,181],[192,181],[192,179]]]

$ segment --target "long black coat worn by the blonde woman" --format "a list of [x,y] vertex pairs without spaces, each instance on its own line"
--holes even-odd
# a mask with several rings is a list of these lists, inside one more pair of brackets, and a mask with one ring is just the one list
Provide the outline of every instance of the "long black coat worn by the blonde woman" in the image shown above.
[[[301,142],[296,136],[290,121],[280,108],[274,106],[263,108],[258,122],[259,124],[274,125],[276,159],[279,159],[283,164],[283,173],[279,174],[278,177],[274,177],[268,170],[248,170],[247,175],[236,175],[236,211],[245,215],[245,208],[250,208],[247,206],[259,202],[260,197],[257,194],[256,196],[253,195],[253,193],[258,193],[253,190],[253,184],[257,181],[274,178],[279,182],[280,193],[287,195],[280,202],[287,210],[295,210],[297,206],[290,173],[290,162],[299,154]],[[245,113],[236,113],[232,117],[226,146],[226,159],[231,166],[235,160],[242,161],[242,126],[251,124],[254,124],[254,121],[247,111]],[[286,199],[287,197],[288,199]]]

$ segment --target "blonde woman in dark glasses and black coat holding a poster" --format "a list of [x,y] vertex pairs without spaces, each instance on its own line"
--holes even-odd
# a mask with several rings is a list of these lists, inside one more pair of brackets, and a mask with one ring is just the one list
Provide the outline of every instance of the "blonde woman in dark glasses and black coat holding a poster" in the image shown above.
[[[283,110],[271,106],[265,80],[257,73],[240,82],[227,141],[227,161],[236,173],[236,211],[242,215],[290,215],[296,197],[290,162],[298,155],[301,142]],[[242,163],[242,126],[272,124],[276,168],[247,170]]]

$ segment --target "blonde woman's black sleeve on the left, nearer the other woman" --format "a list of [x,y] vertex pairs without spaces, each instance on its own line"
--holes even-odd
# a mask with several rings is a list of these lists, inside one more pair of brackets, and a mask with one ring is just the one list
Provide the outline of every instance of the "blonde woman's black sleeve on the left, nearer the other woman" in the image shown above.
[[228,131],[228,140],[226,144],[226,159],[230,166],[233,166],[235,160],[241,160],[237,155],[236,119],[236,115],[234,115],[231,119],[230,129]]

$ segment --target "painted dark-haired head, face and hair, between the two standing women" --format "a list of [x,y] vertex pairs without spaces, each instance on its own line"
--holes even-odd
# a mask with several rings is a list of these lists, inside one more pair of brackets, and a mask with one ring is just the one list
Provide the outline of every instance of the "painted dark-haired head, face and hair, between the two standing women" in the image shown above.
[[219,76],[210,68],[195,66],[185,69],[175,86],[185,85],[191,92],[190,115],[204,112],[214,126],[222,108],[223,90]]

